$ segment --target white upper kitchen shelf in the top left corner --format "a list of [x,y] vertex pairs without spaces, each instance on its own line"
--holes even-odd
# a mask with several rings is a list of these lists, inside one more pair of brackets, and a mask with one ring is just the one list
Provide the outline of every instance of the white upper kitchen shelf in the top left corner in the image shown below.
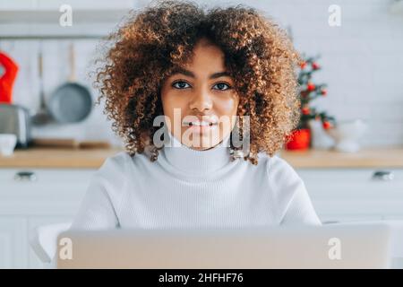
[[0,39],[100,39],[116,30],[133,9],[144,5],[141,1],[124,1],[116,7],[90,7],[75,1],[72,26],[60,25],[63,12],[57,3],[45,8],[34,4],[22,7],[10,4],[10,8],[3,5],[0,6]]

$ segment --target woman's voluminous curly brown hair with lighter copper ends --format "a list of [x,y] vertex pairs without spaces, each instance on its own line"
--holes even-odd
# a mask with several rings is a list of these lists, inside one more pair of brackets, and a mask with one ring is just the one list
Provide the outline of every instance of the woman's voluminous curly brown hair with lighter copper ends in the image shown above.
[[[107,37],[94,87],[105,98],[104,114],[124,139],[127,152],[144,152],[163,115],[160,89],[175,69],[192,60],[198,39],[206,37],[223,51],[239,94],[238,116],[250,117],[250,152],[273,156],[283,147],[300,117],[296,65],[301,57],[287,32],[256,9],[237,4],[201,8],[191,1],[157,1],[132,11]],[[242,126],[241,126],[242,127]]]

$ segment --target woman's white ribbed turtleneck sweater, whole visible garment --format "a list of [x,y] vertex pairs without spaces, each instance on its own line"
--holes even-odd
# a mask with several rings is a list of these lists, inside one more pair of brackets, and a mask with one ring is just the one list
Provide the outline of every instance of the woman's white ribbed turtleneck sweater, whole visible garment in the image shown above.
[[[90,180],[73,229],[321,224],[303,180],[278,155],[230,161],[229,136],[197,151],[170,135],[150,154],[118,152]],[[178,146],[176,146],[178,145]]]

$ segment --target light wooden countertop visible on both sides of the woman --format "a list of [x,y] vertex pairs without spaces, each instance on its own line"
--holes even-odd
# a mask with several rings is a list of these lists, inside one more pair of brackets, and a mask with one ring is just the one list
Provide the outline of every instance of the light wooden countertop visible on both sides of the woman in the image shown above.
[[[0,155],[0,168],[99,169],[107,157],[123,151],[111,149],[68,149],[32,147],[16,150],[11,157]],[[280,151],[279,156],[302,168],[403,168],[403,147],[363,149],[356,153],[308,150]]]

